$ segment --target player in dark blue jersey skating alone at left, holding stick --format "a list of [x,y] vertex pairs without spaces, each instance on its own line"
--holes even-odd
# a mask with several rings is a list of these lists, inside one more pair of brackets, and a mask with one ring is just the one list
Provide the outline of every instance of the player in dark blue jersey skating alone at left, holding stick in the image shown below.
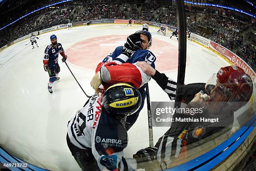
[[52,93],[52,85],[55,81],[59,80],[59,72],[60,67],[58,64],[58,57],[61,54],[62,62],[67,60],[67,55],[65,55],[64,49],[61,43],[57,43],[57,36],[51,35],[50,37],[51,45],[47,46],[44,51],[44,70],[48,71],[49,74],[49,83],[48,83],[48,91]]

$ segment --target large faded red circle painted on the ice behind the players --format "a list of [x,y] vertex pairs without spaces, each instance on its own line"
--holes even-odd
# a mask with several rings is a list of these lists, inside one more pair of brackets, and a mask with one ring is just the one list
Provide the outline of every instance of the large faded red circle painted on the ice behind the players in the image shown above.
[[[123,46],[126,38],[127,35],[108,35],[80,41],[67,49],[68,61],[76,66],[95,70],[102,59],[112,53],[116,47]],[[160,72],[178,68],[177,46],[154,38],[150,51],[156,56],[155,65]]]

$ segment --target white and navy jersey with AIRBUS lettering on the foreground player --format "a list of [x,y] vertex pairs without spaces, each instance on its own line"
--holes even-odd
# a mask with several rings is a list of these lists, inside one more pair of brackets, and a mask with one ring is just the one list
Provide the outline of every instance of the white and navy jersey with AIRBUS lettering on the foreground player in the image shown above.
[[102,107],[102,96],[94,94],[72,117],[68,124],[69,139],[78,148],[91,148],[100,170],[134,171],[136,161],[123,157],[128,143],[127,131]]

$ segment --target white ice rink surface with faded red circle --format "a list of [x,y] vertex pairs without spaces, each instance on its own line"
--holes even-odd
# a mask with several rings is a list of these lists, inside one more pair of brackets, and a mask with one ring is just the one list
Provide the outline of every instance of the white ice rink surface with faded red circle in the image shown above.
[[[90,81],[95,68],[105,56],[122,46],[126,37],[142,26],[108,24],[75,27],[44,33],[39,36],[39,48],[32,49],[28,39],[0,52],[0,145],[8,153],[49,170],[79,171],[66,143],[67,122],[82,108],[87,97],[79,88],[67,66],[61,62],[60,80],[54,82],[53,94],[47,89],[49,75],[44,71],[43,55],[55,34],[65,49],[67,64],[83,87],[92,95]],[[177,80],[178,41],[156,33],[150,27],[156,56],[156,69]],[[229,64],[212,51],[187,42],[185,84],[207,82],[220,67]],[[170,101],[167,94],[152,79],[149,82],[151,101]],[[154,127],[154,144],[168,128]],[[148,147],[146,102],[138,120],[128,131],[125,157],[132,157]]]

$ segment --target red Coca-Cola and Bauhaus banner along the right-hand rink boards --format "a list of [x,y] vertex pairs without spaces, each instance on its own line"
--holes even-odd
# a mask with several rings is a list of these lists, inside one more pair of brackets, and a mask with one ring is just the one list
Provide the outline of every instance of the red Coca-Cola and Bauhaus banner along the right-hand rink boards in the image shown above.
[[248,74],[252,80],[254,80],[255,78],[255,72],[253,71],[253,69],[251,69],[250,66],[248,66],[248,64],[246,64],[245,61],[243,61],[243,59],[241,59],[239,56],[237,56],[236,54],[234,54],[233,52],[229,51],[228,49],[226,49],[225,47],[219,45],[218,43],[215,43],[213,41],[210,41],[210,46],[209,48],[211,48],[214,51],[217,51],[220,55],[224,56],[225,59],[227,59],[228,61],[230,61],[233,65],[235,66],[239,66],[241,69],[243,69],[243,71],[246,72],[246,74]]

